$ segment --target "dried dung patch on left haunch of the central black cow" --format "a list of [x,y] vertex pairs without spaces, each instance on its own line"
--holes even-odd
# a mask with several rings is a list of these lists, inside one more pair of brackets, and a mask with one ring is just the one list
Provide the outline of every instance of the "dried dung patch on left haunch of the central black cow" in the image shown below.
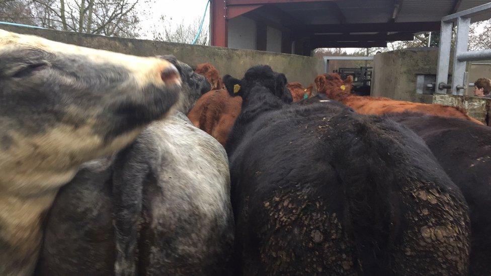
[[320,197],[307,200],[300,191],[277,194],[263,206],[269,223],[262,233],[283,233],[265,238],[261,261],[268,274],[357,274],[354,243]]

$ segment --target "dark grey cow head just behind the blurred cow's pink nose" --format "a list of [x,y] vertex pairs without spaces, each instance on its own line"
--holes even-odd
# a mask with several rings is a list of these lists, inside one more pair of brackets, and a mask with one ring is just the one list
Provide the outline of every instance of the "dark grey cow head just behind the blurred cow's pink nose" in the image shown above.
[[177,60],[175,56],[165,55],[159,57],[171,62],[179,71],[183,83],[182,94],[177,109],[184,114],[188,114],[201,95],[211,90],[210,83],[208,83],[203,75],[193,71],[193,68]]

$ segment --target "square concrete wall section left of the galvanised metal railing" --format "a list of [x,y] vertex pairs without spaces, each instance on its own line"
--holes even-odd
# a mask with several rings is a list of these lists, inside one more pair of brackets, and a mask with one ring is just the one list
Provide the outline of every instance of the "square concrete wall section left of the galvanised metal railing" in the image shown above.
[[405,49],[376,54],[371,95],[431,104],[432,95],[416,93],[416,75],[436,74],[437,60],[438,48]]

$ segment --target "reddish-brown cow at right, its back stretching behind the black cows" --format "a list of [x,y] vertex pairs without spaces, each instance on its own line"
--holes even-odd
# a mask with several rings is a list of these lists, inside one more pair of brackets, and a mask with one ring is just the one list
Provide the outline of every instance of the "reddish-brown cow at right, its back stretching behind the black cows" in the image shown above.
[[408,111],[441,117],[460,118],[483,125],[483,123],[468,116],[464,109],[457,107],[353,95],[350,93],[352,88],[352,80],[352,76],[348,76],[345,80],[343,80],[339,74],[329,73],[318,75],[315,78],[315,85],[318,93],[325,94],[329,98],[339,101],[361,114],[382,115],[386,113],[400,113]]

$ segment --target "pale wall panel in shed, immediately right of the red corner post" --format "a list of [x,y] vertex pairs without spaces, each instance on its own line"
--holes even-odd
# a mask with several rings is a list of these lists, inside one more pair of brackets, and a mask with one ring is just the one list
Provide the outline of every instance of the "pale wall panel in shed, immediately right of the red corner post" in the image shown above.
[[244,16],[228,21],[228,47],[256,50],[256,22]]

